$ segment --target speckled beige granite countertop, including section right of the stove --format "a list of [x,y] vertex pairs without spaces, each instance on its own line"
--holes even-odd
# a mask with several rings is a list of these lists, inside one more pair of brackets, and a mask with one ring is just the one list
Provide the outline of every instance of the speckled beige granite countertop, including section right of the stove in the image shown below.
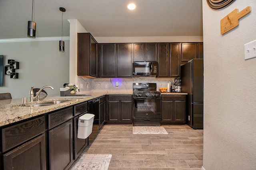
[[[30,102],[22,104],[22,98],[19,99],[8,99],[0,100],[0,127],[28,119],[37,115],[42,115],[51,111],[62,109],[64,107],[72,106],[81,102],[92,100],[104,95],[132,95],[131,92],[93,92],[93,93],[79,93],[79,94],[90,94],[92,96],[86,98],[72,98],[63,97],[58,95],[48,95],[44,100],[37,102]],[[186,95],[187,93],[161,93],[162,95]],[[66,102],[60,104],[54,104],[50,106],[40,106],[40,107],[27,107],[29,104],[40,104],[56,100],[65,100]]]

